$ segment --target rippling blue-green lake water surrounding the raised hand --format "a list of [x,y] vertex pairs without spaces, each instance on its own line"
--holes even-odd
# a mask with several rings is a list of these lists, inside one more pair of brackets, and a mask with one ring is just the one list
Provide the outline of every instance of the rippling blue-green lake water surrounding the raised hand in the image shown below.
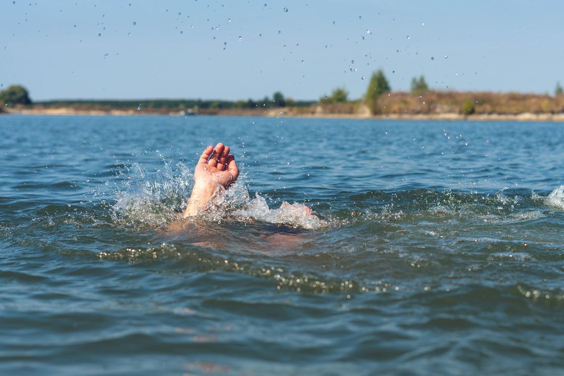
[[[240,179],[182,222],[217,141]],[[2,116],[0,372],[562,374],[563,141],[559,123]]]

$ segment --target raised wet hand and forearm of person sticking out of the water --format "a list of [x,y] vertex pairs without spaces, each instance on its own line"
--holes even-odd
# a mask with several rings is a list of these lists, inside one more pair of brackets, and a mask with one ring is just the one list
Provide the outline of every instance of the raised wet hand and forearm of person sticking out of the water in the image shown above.
[[235,183],[239,168],[229,151],[229,147],[221,142],[215,148],[211,145],[205,148],[194,170],[194,187],[184,218],[197,215],[199,210],[204,209],[219,187],[227,189]]

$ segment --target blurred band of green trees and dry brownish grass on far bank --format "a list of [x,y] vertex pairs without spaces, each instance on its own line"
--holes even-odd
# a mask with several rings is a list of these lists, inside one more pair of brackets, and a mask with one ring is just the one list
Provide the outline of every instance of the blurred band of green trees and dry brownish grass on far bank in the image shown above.
[[[293,116],[310,115],[433,115],[433,114],[557,114],[564,113],[564,90],[556,83],[554,95],[518,92],[458,92],[430,89],[425,77],[413,77],[410,92],[394,92],[382,70],[368,80],[363,98],[351,99],[345,87],[336,87],[319,100],[297,101],[280,91],[272,98],[237,100],[143,99],[143,100],[51,100],[33,103],[28,90],[12,85],[0,91],[0,112],[48,109],[76,112],[175,113],[175,114],[272,114],[280,110]],[[270,113],[269,113],[270,111]]]

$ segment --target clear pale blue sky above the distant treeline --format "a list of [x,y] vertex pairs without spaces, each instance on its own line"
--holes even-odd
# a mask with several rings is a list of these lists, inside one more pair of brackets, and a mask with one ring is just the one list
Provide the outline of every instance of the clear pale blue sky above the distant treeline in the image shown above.
[[0,0],[0,90],[51,99],[317,100],[394,91],[552,94],[564,2]]

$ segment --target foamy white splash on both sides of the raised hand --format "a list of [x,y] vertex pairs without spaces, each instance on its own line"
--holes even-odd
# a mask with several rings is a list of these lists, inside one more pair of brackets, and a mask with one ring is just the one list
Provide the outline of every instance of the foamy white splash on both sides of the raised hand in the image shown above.
[[[162,156],[161,159],[164,166],[156,172],[148,172],[139,163],[127,171],[127,180],[120,183],[112,205],[114,222],[136,229],[164,228],[182,218],[194,184],[193,174],[182,162],[174,163]],[[246,174],[241,172],[230,189],[216,192],[200,219],[218,223],[265,222],[305,229],[326,225],[303,205],[283,202],[278,209],[270,209],[258,193],[250,198],[246,180]]]

